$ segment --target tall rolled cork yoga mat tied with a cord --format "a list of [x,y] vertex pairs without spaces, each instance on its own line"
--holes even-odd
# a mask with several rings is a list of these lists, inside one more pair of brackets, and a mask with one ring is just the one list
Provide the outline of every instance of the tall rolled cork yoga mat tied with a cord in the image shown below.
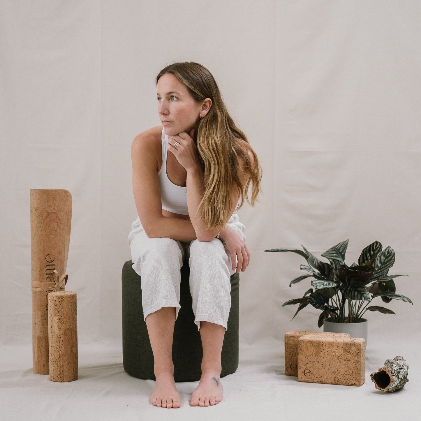
[[48,374],[47,296],[64,289],[61,278],[69,252],[72,195],[63,189],[33,189],[30,208],[33,372]]

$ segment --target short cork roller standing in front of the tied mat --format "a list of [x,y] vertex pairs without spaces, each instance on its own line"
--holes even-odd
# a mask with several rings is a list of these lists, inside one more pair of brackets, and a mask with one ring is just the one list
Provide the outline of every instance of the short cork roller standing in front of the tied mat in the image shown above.
[[48,294],[48,343],[51,381],[77,380],[76,293]]

